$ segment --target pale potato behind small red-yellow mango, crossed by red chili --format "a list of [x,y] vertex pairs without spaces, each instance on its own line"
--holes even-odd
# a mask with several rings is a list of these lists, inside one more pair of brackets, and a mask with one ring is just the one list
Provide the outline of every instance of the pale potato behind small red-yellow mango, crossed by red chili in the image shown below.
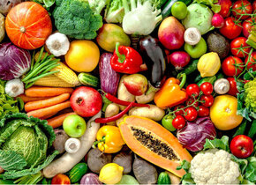
[[[117,98],[120,100],[125,100],[125,101],[134,101],[135,96],[132,95],[132,93],[129,93],[123,83],[124,78],[127,77],[127,75],[124,75],[119,82],[118,89],[117,89]],[[121,110],[124,110],[125,106],[119,106]]]

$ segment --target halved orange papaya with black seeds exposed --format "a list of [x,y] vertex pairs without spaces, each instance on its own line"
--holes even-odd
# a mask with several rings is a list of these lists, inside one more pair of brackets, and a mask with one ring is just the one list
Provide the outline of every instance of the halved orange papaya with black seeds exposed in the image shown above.
[[119,129],[132,152],[179,177],[185,174],[183,169],[177,170],[177,167],[184,159],[190,162],[192,156],[169,130],[136,115],[125,117]]

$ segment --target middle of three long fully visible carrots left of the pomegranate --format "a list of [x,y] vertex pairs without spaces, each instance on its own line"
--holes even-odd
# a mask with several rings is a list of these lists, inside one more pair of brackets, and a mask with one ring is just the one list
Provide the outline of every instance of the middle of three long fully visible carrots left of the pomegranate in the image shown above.
[[69,93],[63,93],[59,96],[49,98],[46,100],[36,100],[36,101],[32,101],[32,102],[27,102],[25,104],[25,111],[29,112],[29,111],[40,109],[43,107],[54,106],[56,104],[64,102],[65,100],[68,100],[69,98],[70,98]]

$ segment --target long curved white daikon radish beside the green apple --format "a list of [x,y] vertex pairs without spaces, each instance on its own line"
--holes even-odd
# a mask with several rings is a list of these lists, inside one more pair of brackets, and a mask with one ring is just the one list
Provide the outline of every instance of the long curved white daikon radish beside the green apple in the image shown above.
[[97,115],[94,115],[87,122],[87,130],[86,133],[79,138],[81,144],[78,152],[68,153],[65,152],[62,157],[52,161],[49,166],[45,167],[42,171],[42,174],[46,178],[52,178],[56,174],[65,174],[72,169],[76,164],[79,163],[81,159],[85,157],[87,152],[91,149],[94,144],[96,134],[100,129],[100,124],[94,122],[96,118],[101,117],[102,111],[100,111]]

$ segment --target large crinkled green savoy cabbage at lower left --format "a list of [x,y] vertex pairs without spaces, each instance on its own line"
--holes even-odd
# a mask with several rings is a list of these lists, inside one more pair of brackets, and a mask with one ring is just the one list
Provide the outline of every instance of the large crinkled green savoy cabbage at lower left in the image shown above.
[[0,121],[0,166],[4,179],[37,174],[56,157],[48,155],[55,133],[47,121],[24,113],[5,115]]

